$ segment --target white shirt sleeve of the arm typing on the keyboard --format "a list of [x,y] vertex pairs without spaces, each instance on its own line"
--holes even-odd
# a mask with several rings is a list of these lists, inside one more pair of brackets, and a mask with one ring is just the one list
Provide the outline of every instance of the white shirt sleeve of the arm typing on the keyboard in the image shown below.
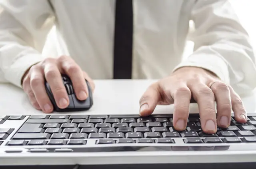
[[204,68],[238,93],[256,86],[255,56],[246,30],[228,0],[197,0],[192,10],[194,52],[175,69]]

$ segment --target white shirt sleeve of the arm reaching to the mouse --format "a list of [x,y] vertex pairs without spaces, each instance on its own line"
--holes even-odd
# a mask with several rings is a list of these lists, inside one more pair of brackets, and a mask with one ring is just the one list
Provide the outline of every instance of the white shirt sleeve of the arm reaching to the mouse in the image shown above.
[[0,71],[21,87],[21,79],[41,55],[53,26],[53,11],[47,0],[0,1]]

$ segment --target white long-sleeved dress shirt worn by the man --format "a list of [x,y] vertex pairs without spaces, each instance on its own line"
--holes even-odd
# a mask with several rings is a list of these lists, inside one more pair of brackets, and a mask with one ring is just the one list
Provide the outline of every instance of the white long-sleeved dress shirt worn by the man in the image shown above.
[[[21,86],[24,72],[44,59],[53,25],[82,70],[93,79],[112,79],[115,0],[0,0],[0,6],[2,82]],[[238,93],[256,86],[252,46],[228,0],[133,0],[133,10],[132,78],[160,79],[196,66]],[[188,38],[194,52],[182,61]]]

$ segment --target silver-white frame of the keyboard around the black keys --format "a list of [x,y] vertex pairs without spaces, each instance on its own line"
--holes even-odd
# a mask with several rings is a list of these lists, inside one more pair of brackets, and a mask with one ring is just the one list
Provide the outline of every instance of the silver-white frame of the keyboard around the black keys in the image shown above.
[[[66,113],[65,115],[76,115]],[[81,114],[77,114],[81,115]],[[94,115],[87,114],[86,115]],[[106,115],[106,114],[104,114]],[[110,114],[109,114],[110,115]],[[89,140],[86,145],[40,145],[40,146],[6,146],[6,143],[20,129],[30,115],[22,120],[6,120],[0,128],[15,128],[10,136],[0,145],[0,165],[111,165],[111,164],[189,164],[189,163],[244,163],[256,162],[256,143],[194,143],[186,144],[184,138],[174,146],[172,143],[127,143],[95,145],[97,139]],[[191,114],[191,117],[197,114]],[[256,113],[248,113],[256,116]],[[217,147],[216,147],[217,146]],[[223,146],[223,147],[222,147]],[[228,149],[222,149],[229,146]],[[134,151],[123,151],[124,148]],[[143,147],[143,148],[142,148]],[[31,153],[32,148],[46,148],[52,152]],[[58,148],[80,150],[72,152],[53,152]],[[84,149],[83,149],[84,148]],[[108,148],[111,151],[95,151]],[[113,151],[118,149],[119,151]],[[140,149],[138,149],[140,148]],[[202,149],[203,148],[203,149]],[[93,151],[88,151],[92,149]],[[5,151],[13,150],[12,153]],[[15,152],[22,150],[22,152]],[[131,149],[128,149],[131,150]],[[254,165],[255,166],[255,165]],[[2,167],[1,167],[2,168]],[[255,168],[255,167],[254,167]]]

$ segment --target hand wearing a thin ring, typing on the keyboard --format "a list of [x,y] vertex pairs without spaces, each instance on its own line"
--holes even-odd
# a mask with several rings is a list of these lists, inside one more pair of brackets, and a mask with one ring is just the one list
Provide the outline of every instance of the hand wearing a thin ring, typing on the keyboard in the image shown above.
[[[205,133],[216,133],[217,126],[228,127],[232,110],[236,121],[247,121],[244,105],[232,87],[207,70],[194,67],[180,68],[148,87],[140,99],[140,115],[150,115],[158,104],[174,103],[173,125],[182,131],[186,129],[189,105],[193,99],[198,103]],[[217,103],[217,115],[214,101]]]

